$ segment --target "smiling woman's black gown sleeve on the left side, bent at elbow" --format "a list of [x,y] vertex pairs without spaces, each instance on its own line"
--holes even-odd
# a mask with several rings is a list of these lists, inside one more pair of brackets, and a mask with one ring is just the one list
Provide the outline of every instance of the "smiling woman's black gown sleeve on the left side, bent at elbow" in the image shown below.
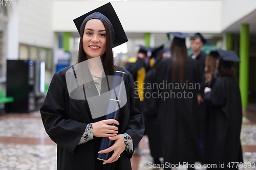
[[56,73],[44,104],[40,108],[42,123],[49,137],[61,148],[74,153],[87,125],[65,117],[69,105],[65,74]]

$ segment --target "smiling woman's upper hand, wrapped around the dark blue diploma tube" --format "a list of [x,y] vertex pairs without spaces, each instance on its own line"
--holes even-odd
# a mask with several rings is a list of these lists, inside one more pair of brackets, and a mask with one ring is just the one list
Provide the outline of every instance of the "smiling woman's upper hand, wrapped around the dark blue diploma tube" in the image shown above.
[[106,119],[93,123],[93,136],[95,137],[111,137],[118,133],[118,128],[108,124],[119,125],[115,119]]

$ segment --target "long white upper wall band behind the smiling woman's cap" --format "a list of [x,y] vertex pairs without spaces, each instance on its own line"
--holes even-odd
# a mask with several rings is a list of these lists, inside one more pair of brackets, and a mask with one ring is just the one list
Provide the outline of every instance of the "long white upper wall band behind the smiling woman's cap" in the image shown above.
[[[53,30],[76,32],[73,19],[107,2],[54,1]],[[221,1],[111,2],[125,32],[221,32]]]

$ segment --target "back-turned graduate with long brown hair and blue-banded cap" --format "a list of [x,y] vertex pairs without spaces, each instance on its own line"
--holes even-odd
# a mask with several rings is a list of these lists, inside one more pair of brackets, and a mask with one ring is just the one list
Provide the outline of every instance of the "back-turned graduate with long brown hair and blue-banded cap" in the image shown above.
[[159,144],[165,163],[194,164],[201,159],[197,101],[199,70],[197,62],[187,55],[185,38],[189,35],[180,32],[167,35],[170,34],[174,36],[170,44],[171,56],[157,67],[155,83],[158,87],[153,92],[161,119]]

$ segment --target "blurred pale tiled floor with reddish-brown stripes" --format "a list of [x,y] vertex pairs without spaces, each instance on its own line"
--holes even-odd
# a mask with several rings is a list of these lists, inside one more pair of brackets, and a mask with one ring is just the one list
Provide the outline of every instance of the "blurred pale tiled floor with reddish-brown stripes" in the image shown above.
[[[244,162],[256,163],[256,112],[244,113],[248,117],[243,119],[241,133]],[[138,170],[152,169],[148,166],[152,158],[146,136],[139,147],[142,156],[137,159]],[[56,144],[46,134],[38,111],[0,115],[0,169],[56,169]]]

